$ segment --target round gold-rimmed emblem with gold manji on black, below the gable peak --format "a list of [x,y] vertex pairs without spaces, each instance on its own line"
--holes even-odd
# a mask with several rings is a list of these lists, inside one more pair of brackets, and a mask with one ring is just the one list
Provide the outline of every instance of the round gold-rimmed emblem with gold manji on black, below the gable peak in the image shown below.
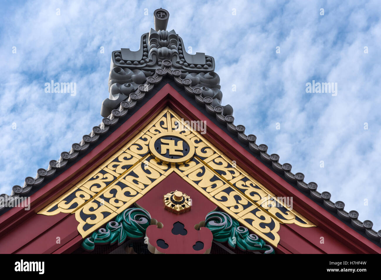
[[159,133],[149,141],[149,150],[163,163],[183,164],[189,162],[195,152],[190,139],[179,133]]

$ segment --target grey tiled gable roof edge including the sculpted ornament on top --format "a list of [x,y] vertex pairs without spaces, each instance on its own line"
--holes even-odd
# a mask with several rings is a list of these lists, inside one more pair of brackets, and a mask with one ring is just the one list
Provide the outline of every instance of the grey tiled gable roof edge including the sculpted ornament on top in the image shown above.
[[[166,20],[168,21],[168,17]],[[172,48],[172,45],[176,48]],[[37,192],[66,168],[90,153],[123,122],[131,118],[134,112],[144,106],[158,90],[169,83],[201,113],[210,115],[211,122],[229,135],[236,144],[254,155],[264,166],[274,170],[279,178],[322,205],[344,224],[381,246],[381,230],[378,232],[373,230],[371,221],[361,222],[357,211],[344,210],[344,202],[332,202],[329,192],[318,192],[315,182],[304,182],[303,173],[291,172],[290,163],[281,164],[279,155],[267,154],[268,147],[265,144],[256,144],[255,135],[246,135],[245,126],[234,125],[232,107],[221,106],[222,93],[219,77],[214,72],[214,59],[200,53],[186,54],[182,52],[182,45],[181,38],[174,30],[167,32],[151,29],[149,33],[142,35],[139,51],[131,52],[129,49],[114,51],[109,75],[110,96],[102,103],[101,109],[101,114],[106,117],[98,126],[94,126],[91,133],[85,134],[80,142],[74,143],[69,152],[62,152],[59,160],[51,160],[46,170],[38,169],[37,175],[27,177],[22,187],[14,186],[10,196],[2,194],[1,197],[6,202],[11,202],[17,197]],[[141,60],[138,58],[140,55]],[[10,210],[4,206],[0,207],[0,214]]]

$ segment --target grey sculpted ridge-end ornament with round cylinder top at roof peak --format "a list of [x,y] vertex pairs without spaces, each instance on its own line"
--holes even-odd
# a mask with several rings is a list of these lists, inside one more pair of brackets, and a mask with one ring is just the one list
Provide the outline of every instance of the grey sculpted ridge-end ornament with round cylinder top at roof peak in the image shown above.
[[[166,74],[184,86],[189,94],[197,94],[200,100],[208,98],[213,107],[221,106],[222,92],[219,76],[214,72],[214,58],[205,53],[184,51],[181,37],[173,29],[166,30],[168,19],[168,11],[155,10],[155,29],[141,36],[138,51],[121,48],[112,52],[109,98],[102,102],[102,117],[108,117],[122,101],[130,103],[144,98]],[[230,105],[222,107],[225,115],[232,115]]]

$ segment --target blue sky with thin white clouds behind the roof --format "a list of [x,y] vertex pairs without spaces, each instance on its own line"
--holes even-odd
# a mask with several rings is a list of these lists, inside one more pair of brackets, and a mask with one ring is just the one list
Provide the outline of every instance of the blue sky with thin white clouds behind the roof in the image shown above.
[[[160,7],[168,30],[215,58],[235,124],[381,229],[378,1],[1,2],[0,193],[101,122],[111,52],[137,50]],[[46,93],[51,80],[76,95]],[[312,80],[337,83],[337,96],[306,93]]]

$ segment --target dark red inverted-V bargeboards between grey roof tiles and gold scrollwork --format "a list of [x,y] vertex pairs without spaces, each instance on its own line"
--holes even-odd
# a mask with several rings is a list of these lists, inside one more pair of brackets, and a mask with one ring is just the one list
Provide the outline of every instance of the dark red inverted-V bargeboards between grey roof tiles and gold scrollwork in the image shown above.
[[[160,91],[147,100],[144,106],[138,108],[132,115],[127,113],[124,117],[126,119],[125,122],[123,122],[123,118],[120,118],[120,121],[114,125],[115,130],[107,136],[107,133],[102,135],[98,142],[92,144],[91,149],[83,153],[82,158],[70,165],[66,165],[63,172],[58,174],[58,176],[53,176],[54,178],[47,181],[41,189],[37,190],[30,198],[30,211],[24,211],[23,208],[13,208],[0,216],[0,235],[6,234],[5,237],[0,238],[0,243],[6,246],[6,248],[10,247],[9,252],[13,252],[11,250],[14,249],[11,248],[18,248],[18,246],[22,246],[21,244],[26,244],[33,240],[35,236],[39,236],[41,232],[38,229],[47,229],[51,221],[54,222],[54,227],[59,228],[56,230],[62,231],[62,235],[66,234],[66,232],[70,232],[71,236],[76,234],[76,237],[70,244],[75,245],[76,242],[80,244],[82,236],[78,234],[78,221],[73,218],[74,215],[60,213],[55,216],[43,216],[34,213],[40,211],[48,202],[52,203],[52,201],[61,197],[62,194],[66,193],[73,186],[78,185],[78,182],[94,172],[104,162],[105,158],[111,157],[115,152],[122,149],[126,142],[133,139],[136,131],[143,130],[143,127],[151,122],[159,111],[169,106],[184,120],[206,120],[208,124],[207,134],[204,134],[204,137],[209,142],[216,145],[227,157],[234,158],[238,166],[246,170],[246,172],[274,194],[281,197],[293,197],[293,208],[317,225],[317,227],[307,229],[293,224],[282,225],[279,231],[281,239],[277,250],[279,249],[286,253],[290,252],[288,250],[294,253],[337,253],[338,250],[343,253],[381,252],[377,245],[371,243],[367,238],[362,237],[353,229],[340,222],[328,213],[327,210],[305,197],[288,184],[288,182],[275,174],[274,171],[261,163],[248,150],[238,145],[237,142],[212,122],[210,118],[192,106],[182,94],[184,92],[178,93],[169,84],[163,86]],[[116,126],[118,127],[116,128]],[[60,220],[62,220],[62,223],[58,222]],[[64,227],[66,221],[70,223],[70,229]],[[35,226],[36,222],[39,225],[38,227]],[[56,250],[57,248],[48,248],[48,245],[45,246],[45,243],[41,243],[50,232],[54,234],[54,231],[46,231],[46,233],[38,238],[40,241],[37,243],[29,242],[31,245],[25,245],[22,251],[27,252],[32,250],[32,248],[39,248],[38,251],[44,249],[42,250],[44,252]],[[22,242],[18,239],[18,236],[22,236]],[[323,247],[319,245],[320,239],[316,238],[316,236],[325,237],[325,245]],[[66,246],[69,245],[64,245],[57,252],[66,251]],[[284,246],[287,246],[288,249]],[[5,250],[5,247],[3,249]]]

